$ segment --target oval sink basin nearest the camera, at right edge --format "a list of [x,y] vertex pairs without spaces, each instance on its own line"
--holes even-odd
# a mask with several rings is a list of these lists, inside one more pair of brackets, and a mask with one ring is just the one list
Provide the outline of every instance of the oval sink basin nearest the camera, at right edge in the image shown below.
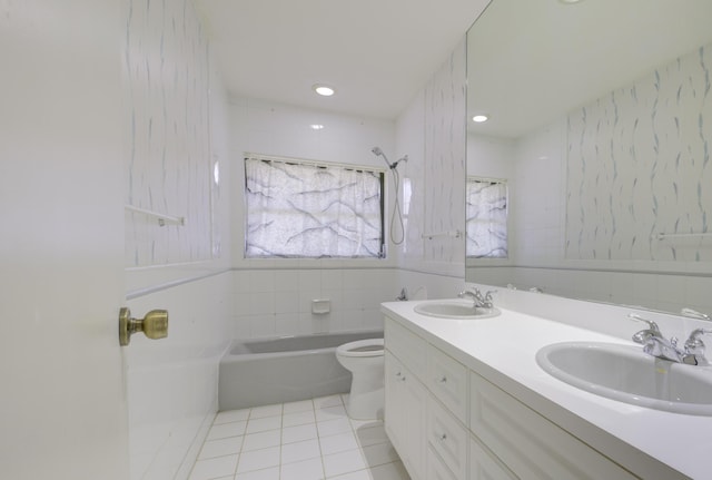
[[634,405],[712,415],[712,369],[655,359],[632,345],[554,343],[536,353],[547,373],[573,386]]

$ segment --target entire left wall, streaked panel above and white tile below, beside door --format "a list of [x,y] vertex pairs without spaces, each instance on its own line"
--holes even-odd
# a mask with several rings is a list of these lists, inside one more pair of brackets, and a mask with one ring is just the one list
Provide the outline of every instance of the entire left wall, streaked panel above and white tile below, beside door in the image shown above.
[[[168,337],[123,349],[132,479],[187,478],[217,410],[229,341],[229,164],[224,88],[190,0],[123,3],[126,305],[169,312]],[[214,166],[224,179],[216,182]],[[222,248],[222,242],[226,247]]]

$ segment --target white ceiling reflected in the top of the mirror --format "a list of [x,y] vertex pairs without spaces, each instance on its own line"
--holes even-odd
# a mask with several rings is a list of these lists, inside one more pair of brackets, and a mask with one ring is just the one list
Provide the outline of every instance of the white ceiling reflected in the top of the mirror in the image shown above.
[[[712,42],[712,0],[494,0],[467,41],[469,131],[517,138]],[[709,68],[709,67],[706,67]]]

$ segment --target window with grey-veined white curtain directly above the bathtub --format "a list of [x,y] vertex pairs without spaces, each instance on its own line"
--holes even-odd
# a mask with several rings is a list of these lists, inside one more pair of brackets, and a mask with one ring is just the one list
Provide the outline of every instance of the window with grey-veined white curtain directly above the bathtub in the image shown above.
[[383,170],[245,158],[245,256],[380,258]]

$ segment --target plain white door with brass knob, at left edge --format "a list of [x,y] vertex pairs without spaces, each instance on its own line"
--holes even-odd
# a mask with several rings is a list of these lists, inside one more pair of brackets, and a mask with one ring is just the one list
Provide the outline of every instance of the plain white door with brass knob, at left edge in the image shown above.
[[0,2],[0,478],[128,479],[120,2]]

